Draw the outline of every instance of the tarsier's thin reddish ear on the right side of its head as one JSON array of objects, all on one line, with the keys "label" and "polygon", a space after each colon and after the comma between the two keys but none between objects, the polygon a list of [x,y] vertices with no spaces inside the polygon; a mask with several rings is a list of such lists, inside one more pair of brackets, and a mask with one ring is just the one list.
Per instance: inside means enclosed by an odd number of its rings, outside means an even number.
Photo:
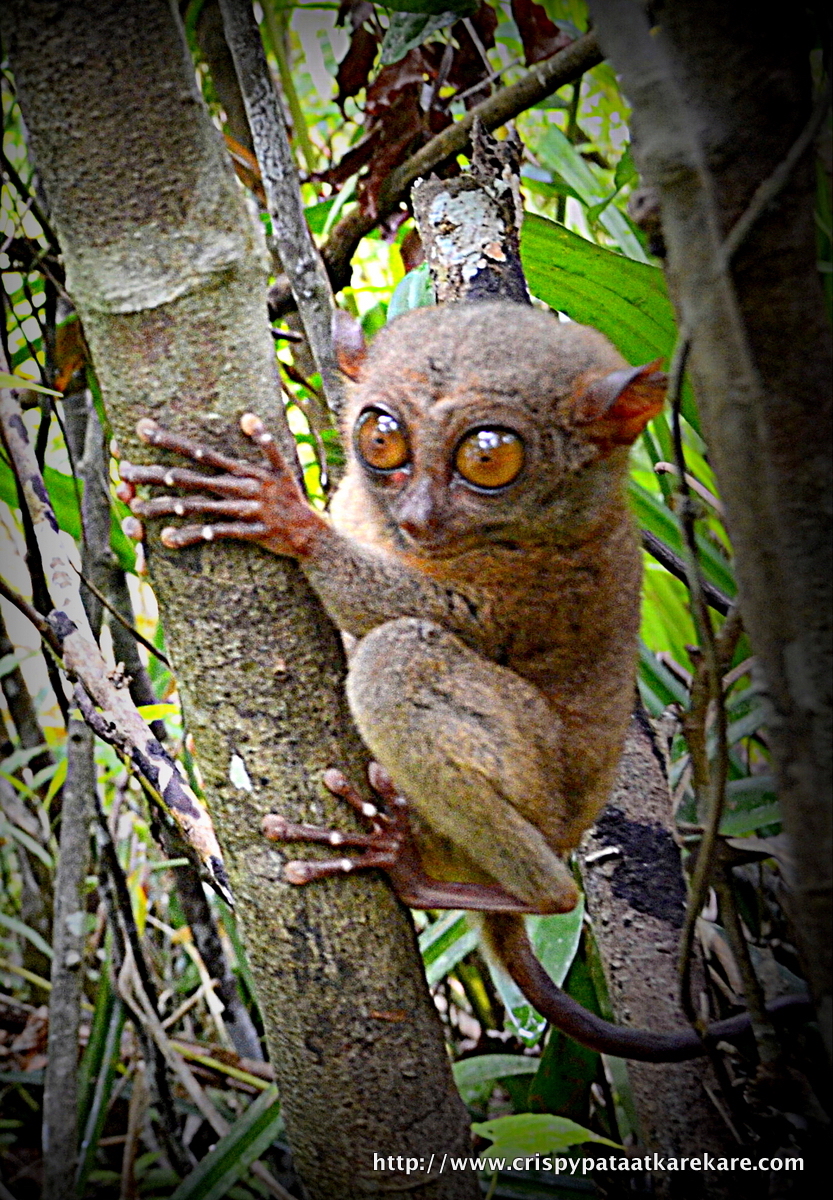
[{"label": "tarsier's thin reddish ear on the right side of its head", "polygon": [[609,446],[631,445],[665,402],[669,378],[658,370],[661,361],[594,379],[573,410],[585,437]]}]

